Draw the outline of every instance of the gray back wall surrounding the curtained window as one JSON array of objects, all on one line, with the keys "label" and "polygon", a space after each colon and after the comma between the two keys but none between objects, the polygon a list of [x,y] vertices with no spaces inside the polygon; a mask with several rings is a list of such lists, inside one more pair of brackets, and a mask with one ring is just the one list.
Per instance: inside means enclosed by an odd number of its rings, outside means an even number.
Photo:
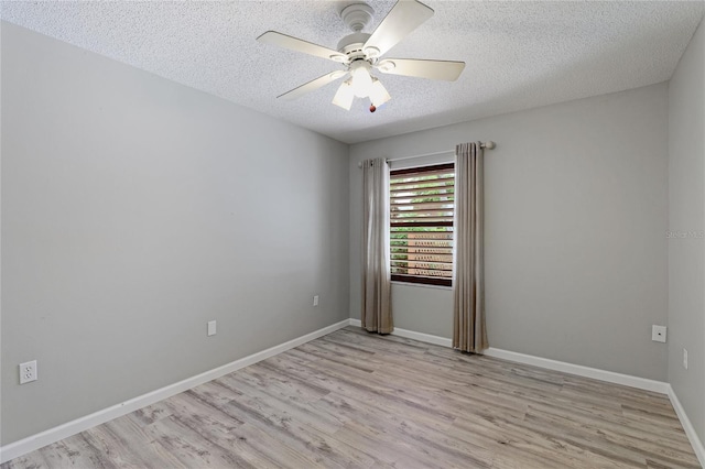
[{"label": "gray back wall surrounding the curtained window", "polygon": [[[664,381],[666,346],[651,325],[665,325],[668,308],[665,84],[352,145],[351,316],[357,163],[476,140],[498,144],[485,166],[491,347]],[[397,327],[451,337],[449,290],[393,285],[392,301]]]}]

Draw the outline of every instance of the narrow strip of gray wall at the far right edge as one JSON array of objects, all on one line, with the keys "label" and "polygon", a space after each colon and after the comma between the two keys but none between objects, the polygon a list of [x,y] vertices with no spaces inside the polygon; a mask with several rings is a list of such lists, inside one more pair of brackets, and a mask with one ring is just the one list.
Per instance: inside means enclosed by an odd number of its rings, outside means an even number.
[{"label": "narrow strip of gray wall at the far right edge", "polygon": [[[669,84],[669,382],[705,444],[705,26]],[[694,234],[694,236],[693,236]],[[684,238],[681,238],[684,236]],[[683,349],[688,369],[683,368]]]}]

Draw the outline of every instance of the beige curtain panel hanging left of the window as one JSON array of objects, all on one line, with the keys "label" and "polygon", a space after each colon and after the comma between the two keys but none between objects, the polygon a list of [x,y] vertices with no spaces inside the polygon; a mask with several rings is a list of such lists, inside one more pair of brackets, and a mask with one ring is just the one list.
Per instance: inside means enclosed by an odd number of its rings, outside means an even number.
[{"label": "beige curtain panel hanging left of the window", "polygon": [[389,165],[384,159],[362,162],[362,327],[394,330],[391,309],[389,247]]}]

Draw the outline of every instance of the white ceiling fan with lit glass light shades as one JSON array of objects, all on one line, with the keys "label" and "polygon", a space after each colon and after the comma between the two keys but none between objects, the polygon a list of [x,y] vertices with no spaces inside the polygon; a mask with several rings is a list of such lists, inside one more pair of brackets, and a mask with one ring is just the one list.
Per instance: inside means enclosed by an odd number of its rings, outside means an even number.
[{"label": "white ceiling fan with lit glass light shades", "polygon": [[372,70],[454,81],[465,68],[464,62],[382,58],[390,48],[433,15],[433,10],[425,4],[416,0],[399,0],[372,34],[364,33],[362,30],[372,19],[372,14],[373,10],[367,3],[352,3],[340,11],[340,19],[352,30],[352,34],[340,40],[337,51],[275,31],[268,31],[259,36],[257,40],[262,43],[327,58],[344,66],[343,69],[311,80],[278,98],[296,99],[336,79],[349,76],[338,88],[333,103],[350,110],[356,97],[369,98],[370,112],[375,112],[377,107],[389,101],[391,96],[381,81],[371,75]]}]

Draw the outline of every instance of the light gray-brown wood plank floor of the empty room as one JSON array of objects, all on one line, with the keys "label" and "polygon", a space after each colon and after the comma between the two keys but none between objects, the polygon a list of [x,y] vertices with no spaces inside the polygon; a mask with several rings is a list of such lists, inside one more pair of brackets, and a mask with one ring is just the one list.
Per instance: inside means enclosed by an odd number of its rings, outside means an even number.
[{"label": "light gray-brown wood plank floor of the empty room", "polygon": [[698,468],[666,396],[329,334],[10,468]]}]

